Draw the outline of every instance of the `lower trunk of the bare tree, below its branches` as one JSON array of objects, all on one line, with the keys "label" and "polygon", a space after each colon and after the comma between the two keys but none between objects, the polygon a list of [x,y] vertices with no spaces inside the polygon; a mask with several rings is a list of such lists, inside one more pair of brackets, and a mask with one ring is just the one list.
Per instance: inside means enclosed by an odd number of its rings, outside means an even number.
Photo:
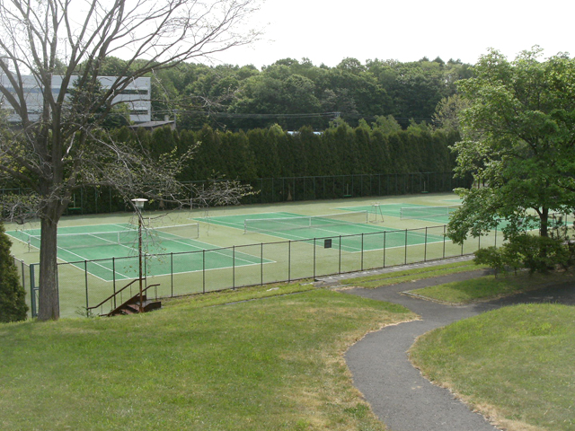
[{"label": "lower trunk of the bare tree, below its branches", "polygon": [[[49,204],[49,206],[51,205]],[[40,227],[40,305],[38,319],[40,321],[56,321],[60,317],[57,292],[57,220],[43,216]]]}]

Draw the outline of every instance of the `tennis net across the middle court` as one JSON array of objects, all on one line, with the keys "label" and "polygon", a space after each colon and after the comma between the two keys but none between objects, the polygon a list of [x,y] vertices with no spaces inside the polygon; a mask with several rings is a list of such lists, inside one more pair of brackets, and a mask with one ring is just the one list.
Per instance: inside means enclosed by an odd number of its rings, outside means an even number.
[{"label": "tennis net across the middle court", "polygon": [[367,223],[367,211],[352,211],[328,216],[248,218],[243,221],[243,233],[283,232],[358,223]]}]

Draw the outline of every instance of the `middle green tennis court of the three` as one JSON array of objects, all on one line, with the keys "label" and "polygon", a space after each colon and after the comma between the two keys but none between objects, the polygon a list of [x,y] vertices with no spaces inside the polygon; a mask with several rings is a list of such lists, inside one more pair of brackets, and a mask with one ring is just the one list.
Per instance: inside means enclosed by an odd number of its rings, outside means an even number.
[{"label": "middle green tennis court of the three", "polygon": [[[399,204],[398,204],[399,205]],[[357,207],[356,207],[357,208]],[[350,208],[346,208],[350,209]],[[376,251],[387,248],[443,242],[443,227],[429,232],[397,230],[367,223],[365,209],[330,216],[302,216],[294,213],[261,213],[240,216],[210,216],[195,220],[242,230],[246,234],[265,233],[278,238],[313,245],[326,244],[341,251]],[[361,214],[363,213],[363,214]],[[354,221],[356,220],[356,221]],[[361,221],[359,221],[361,220]]]}]

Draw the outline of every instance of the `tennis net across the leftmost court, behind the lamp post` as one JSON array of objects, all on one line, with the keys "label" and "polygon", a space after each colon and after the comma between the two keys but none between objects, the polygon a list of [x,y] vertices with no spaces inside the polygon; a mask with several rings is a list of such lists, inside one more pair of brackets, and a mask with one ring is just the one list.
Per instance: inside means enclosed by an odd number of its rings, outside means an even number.
[{"label": "tennis net across the leftmost court, behind the lamp post", "polygon": [[[172,226],[143,228],[142,242],[164,242],[194,239],[199,237],[199,224],[175,224]],[[28,242],[40,247],[40,235],[27,235]],[[101,247],[106,245],[126,245],[137,247],[137,226],[130,226],[121,231],[86,232],[86,233],[60,233],[57,235],[57,246],[61,249],[72,250],[88,247]]]}]

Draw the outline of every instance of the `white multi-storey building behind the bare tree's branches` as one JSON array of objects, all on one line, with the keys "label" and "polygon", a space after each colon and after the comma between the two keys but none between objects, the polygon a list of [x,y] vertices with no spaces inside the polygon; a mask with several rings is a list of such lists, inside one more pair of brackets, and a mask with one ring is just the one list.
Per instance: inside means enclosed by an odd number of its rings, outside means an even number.
[{"label": "white multi-storey building behind the bare tree's branches", "polygon": [[[76,77],[73,77],[72,83],[75,82]],[[109,89],[111,84],[113,84],[117,77],[114,76],[100,76],[98,78],[102,84],[102,89]],[[26,104],[28,106],[28,115],[32,121],[40,119],[40,113],[42,111],[42,95],[40,87],[36,83],[33,76],[27,75],[22,76],[22,82],[26,90]],[[13,92],[12,85],[4,75],[0,75],[0,83],[9,92]],[[60,92],[60,86],[62,84],[62,76],[52,77],[52,92],[55,96]],[[114,96],[114,103],[126,103],[128,109],[130,110],[129,119],[135,123],[143,123],[146,121],[151,121],[152,119],[152,81],[150,78],[136,78],[128,87],[126,87],[122,92]],[[2,101],[2,93],[0,93],[0,101]],[[19,122],[20,117],[15,114],[11,107],[4,101],[0,108],[5,110],[11,110],[8,114],[8,121]]]}]

